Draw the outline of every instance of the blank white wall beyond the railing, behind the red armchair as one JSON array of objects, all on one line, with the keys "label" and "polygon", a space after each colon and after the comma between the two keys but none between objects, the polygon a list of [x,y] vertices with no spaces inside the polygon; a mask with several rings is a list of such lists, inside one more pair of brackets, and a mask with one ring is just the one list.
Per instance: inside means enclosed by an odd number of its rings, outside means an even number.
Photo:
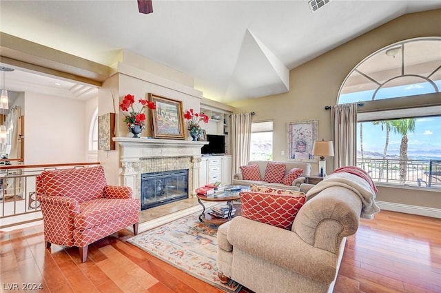
[{"label": "blank white wall beyond the railing, behind the red armchair", "polygon": [[25,92],[25,165],[87,159],[85,102]]}]

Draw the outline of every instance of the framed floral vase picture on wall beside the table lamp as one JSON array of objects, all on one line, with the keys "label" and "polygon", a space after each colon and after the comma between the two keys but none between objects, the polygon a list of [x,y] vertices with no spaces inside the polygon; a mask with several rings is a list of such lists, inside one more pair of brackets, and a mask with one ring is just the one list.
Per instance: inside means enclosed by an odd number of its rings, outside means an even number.
[{"label": "framed floral vase picture on wall beside the table lamp", "polygon": [[287,122],[287,154],[292,161],[316,162],[312,146],[317,140],[317,120]]}]

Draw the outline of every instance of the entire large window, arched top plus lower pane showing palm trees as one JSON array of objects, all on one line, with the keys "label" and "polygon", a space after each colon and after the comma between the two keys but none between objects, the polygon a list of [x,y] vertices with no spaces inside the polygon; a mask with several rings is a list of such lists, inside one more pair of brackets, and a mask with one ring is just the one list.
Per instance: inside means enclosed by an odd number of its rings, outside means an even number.
[{"label": "entire large window, arched top plus lower pane showing palm trees", "polygon": [[441,188],[440,90],[440,37],[393,43],[358,63],[338,94],[339,104],[366,104],[357,165],[378,182]]}]

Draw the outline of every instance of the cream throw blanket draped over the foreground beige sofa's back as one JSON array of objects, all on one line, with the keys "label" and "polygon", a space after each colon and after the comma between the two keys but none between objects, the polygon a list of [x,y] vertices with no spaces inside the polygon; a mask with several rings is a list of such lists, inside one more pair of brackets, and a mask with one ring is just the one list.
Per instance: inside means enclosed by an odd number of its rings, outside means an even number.
[{"label": "cream throw blanket draped over the foreground beige sofa's back", "polygon": [[380,208],[375,203],[375,192],[371,185],[357,175],[349,173],[334,173],[326,176],[322,182],[311,188],[307,194],[307,201],[316,196],[322,190],[333,186],[341,186],[355,192],[362,201],[362,210],[360,216],[363,219],[373,219],[373,214],[380,212]]}]

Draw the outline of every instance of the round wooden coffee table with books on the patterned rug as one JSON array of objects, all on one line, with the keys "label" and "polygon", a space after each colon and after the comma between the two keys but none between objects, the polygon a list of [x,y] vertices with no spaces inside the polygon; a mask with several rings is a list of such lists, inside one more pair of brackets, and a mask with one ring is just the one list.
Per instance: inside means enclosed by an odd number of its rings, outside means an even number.
[{"label": "round wooden coffee table with books on the patterned rug", "polygon": [[[233,201],[237,201],[238,199],[240,199],[239,192],[244,190],[249,190],[249,186],[241,186],[240,191],[238,192],[231,192],[229,191],[229,188],[231,187],[226,187],[224,192],[218,192],[216,194],[211,194],[208,196],[203,194],[196,194],[198,198],[198,203],[201,204],[203,208],[202,213],[199,216],[199,221],[203,223],[220,225],[222,223],[230,221],[231,219],[234,218],[234,216],[240,216],[240,214],[242,214],[240,203],[234,204]],[[229,207],[227,216],[225,218],[221,218],[218,216],[214,216],[213,214],[210,214],[209,210],[207,211],[205,208],[205,205],[203,203],[204,201],[212,201],[212,202],[218,201],[218,202],[227,203]],[[236,212],[234,212],[234,214],[232,214],[233,208],[236,209]]]}]

